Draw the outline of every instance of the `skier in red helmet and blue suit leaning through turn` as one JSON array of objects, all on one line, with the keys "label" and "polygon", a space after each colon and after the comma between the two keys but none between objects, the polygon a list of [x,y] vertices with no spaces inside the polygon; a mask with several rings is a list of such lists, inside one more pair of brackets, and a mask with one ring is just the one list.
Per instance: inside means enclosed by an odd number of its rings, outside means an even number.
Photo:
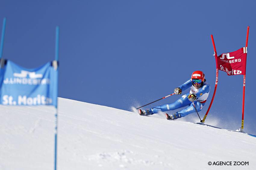
[{"label": "skier in red helmet and blue suit leaning through turn", "polygon": [[[188,106],[187,108],[180,110],[179,112],[173,113],[171,115],[165,114],[166,118],[177,119],[184,117],[190,113],[194,113],[195,108],[198,112],[203,109],[203,106],[207,100],[207,97],[210,92],[210,85],[204,79],[204,73],[202,71],[194,71],[192,73],[191,79],[186,81],[183,85],[180,85],[178,88],[174,89],[175,94],[181,94],[182,91],[190,87],[190,91],[187,94],[184,94],[180,99],[176,100],[171,104],[165,104],[162,106],[156,106],[151,109],[146,109],[142,111],[139,109],[140,115],[152,115],[158,112],[165,112],[168,110],[175,110],[181,107]],[[195,108],[193,106],[195,104]]]}]

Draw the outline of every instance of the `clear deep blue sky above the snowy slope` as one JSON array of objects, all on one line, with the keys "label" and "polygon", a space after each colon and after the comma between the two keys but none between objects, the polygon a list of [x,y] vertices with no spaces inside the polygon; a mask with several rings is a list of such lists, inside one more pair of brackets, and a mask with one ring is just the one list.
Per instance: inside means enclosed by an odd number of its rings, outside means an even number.
[{"label": "clear deep blue sky above the snowy slope", "polygon": [[[130,110],[173,93],[194,70],[205,73],[211,99],[215,60],[210,35],[218,54],[232,52],[245,46],[250,25],[245,131],[255,134],[255,6],[255,1],[2,0],[1,27],[7,17],[3,57],[28,68],[53,60],[59,25],[59,97]],[[241,126],[242,80],[220,71],[205,123],[218,118],[222,127]]]}]

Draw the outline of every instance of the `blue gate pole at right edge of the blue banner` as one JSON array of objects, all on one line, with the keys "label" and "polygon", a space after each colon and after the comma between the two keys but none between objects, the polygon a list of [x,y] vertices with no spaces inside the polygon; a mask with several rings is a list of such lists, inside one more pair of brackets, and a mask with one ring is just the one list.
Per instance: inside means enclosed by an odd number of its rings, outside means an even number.
[{"label": "blue gate pole at right edge of the blue banner", "polygon": [[[59,27],[56,27],[56,37],[55,37],[55,60],[59,60]],[[56,70],[57,71],[57,70]],[[57,103],[56,103],[56,113],[55,113],[55,156],[54,156],[54,169],[57,170],[57,135],[58,135],[58,75],[57,75]]]}]

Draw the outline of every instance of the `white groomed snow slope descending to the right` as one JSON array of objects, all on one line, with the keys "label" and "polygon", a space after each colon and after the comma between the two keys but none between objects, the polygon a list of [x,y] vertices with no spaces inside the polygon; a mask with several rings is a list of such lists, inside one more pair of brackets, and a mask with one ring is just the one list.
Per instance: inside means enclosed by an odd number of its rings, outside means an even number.
[{"label": "white groomed snow slope descending to the right", "polygon": [[[55,109],[0,106],[0,169],[53,169]],[[256,138],[59,98],[58,169],[255,169]],[[246,166],[208,165],[246,161]],[[234,164],[234,163],[233,163]]]}]

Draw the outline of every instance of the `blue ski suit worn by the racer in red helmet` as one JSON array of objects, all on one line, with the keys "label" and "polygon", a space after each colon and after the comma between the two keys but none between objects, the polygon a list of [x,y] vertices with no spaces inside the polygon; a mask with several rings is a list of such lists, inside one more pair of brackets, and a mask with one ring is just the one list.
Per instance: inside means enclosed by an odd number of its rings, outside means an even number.
[{"label": "blue ski suit worn by the racer in red helmet", "polygon": [[[155,114],[158,112],[165,112],[168,110],[175,110],[179,109],[181,107],[186,107],[183,110],[180,110],[179,112],[176,112],[177,114],[180,114],[181,117],[184,117],[190,113],[194,113],[195,108],[197,109],[198,112],[200,112],[203,109],[203,106],[207,100],[207,97],[210,92],[210,85],[207,82],[203,82],[203,85],[199,89],[196,89],[194,85],[192,84],[192,80],[189,79],[186,81],[183,85],[180,85],[179,88],[184,91],[190,87],[190,91],[187,94],[184,94],[180,99],[176,100],[173,103],[170,104],[165,104],[162,106],[156,106],[150,109],[151,114]],[[195,103],[195,108],[193,106],[193,103],[189,101],[188,95],[189,94],[195,94],[196,95],[196,100],[194,101]]]}]

